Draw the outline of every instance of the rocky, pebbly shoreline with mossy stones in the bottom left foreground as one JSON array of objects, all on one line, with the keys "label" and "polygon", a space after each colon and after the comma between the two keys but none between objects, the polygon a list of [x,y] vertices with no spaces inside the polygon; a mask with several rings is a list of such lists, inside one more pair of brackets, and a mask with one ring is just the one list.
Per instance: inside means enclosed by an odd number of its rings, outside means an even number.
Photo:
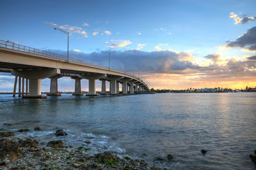
[{"label": "rocky, pebbly shoreline with mossy stones in the bottom left foreground", "polygon": [[[56,136],[67,135],[56,131]],[[66,146],[61,140],[40,142],[32,138],[15,138],[14,132],[0,132],[0,169],[160,169],[145,160],[118,157],[116,153],[95,155],[90,148]]]}]

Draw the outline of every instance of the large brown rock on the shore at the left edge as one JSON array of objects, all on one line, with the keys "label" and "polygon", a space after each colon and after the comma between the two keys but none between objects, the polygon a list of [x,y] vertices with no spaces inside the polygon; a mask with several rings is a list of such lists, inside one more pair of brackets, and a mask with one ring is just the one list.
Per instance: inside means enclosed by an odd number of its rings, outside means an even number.
[{"label": "large brown rock on the shore at the left edge", "polygon": [[0,162],[13,162],[20,155],[19,143],[8,138],[0,139]]}]

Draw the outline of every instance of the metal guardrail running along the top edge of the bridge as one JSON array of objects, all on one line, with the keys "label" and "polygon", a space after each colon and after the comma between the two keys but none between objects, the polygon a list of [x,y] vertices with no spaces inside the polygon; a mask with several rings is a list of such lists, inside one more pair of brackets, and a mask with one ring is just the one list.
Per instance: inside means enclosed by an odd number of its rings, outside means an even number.
[{"label": "metal guardrail running along the top edge of the bridge", "polygon": [[[51,57],[52,59],[67,61],[67,57],[64,56],[64,55],[60,55],[60,54],[52,53],[52,52],[47,52],[47,51],[44,51],[44,50],[39,50],[39,49],[32,48],[32,47],[29,47],[29,46],[19,45],[17,43],[13,43],[12,41],[4,41],[4,40],[0,39],[0,46],[3,47],[3,48],[17,50],[17,51],[20,51],[20,52],[33,53],[33,54],[41,55],[41,56],[44,56],[44,57]],[[73,58],[73,57],[69,57],[68,62],[74,62],[74,63],[81,64],[81,65],[84,65],[84,66],[91,66],[91,67],[97,67],[97,68],[109,70],[108,67],[99,66],[97,64],[94,64],[93,62],[79,60],[79,59],[76,59],[76,58]],[[136,77],[132,74],[124,73],[124,72],[116,70],[116,69],[110,69],[110,71],[116,71],[118,73],[127,74],[129,76],[137,78],[138,80],[140,80],[141,82],[143,82],[147,86],[147,84],[143,80],[141,80],[140,77]]]}]

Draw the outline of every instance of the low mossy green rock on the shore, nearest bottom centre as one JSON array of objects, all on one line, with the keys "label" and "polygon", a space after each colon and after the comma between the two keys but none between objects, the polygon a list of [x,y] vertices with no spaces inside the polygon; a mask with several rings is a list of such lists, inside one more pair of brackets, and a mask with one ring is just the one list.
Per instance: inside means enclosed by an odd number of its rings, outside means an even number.
[{"label": "low mossy green rock on the shore, nearest bottom centre", "polygon": [[106,164],[108,166],[116,164],[119,161],[118,157],[109,151],[96,154],[93,160],[97,162],[97,164]]}]

